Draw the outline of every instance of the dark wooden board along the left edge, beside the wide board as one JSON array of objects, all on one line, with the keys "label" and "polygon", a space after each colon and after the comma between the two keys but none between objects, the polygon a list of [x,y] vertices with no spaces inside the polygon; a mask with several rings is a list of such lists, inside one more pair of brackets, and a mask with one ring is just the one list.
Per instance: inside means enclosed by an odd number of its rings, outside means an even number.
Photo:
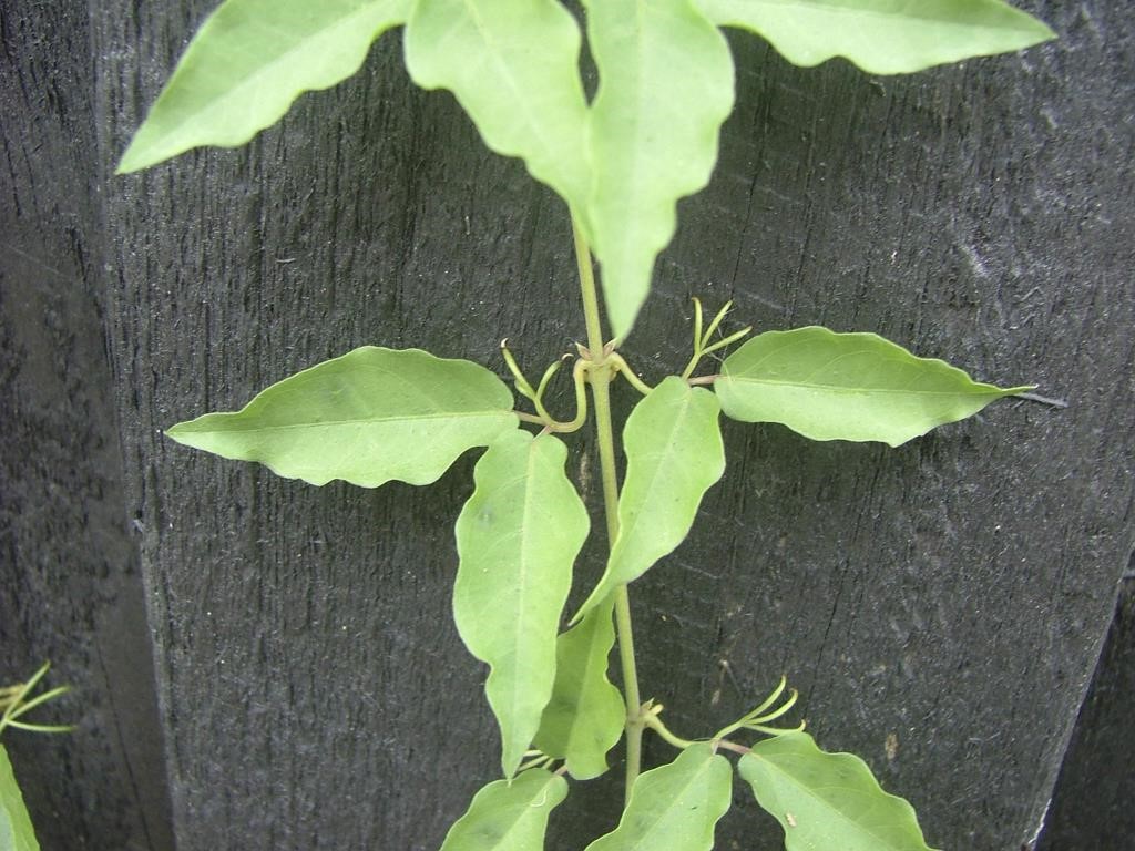
[{"label": "dark wooden board along the left edge, beside the wide board", "polygon": [[0,8],[0,682],[74,692],[6,731],[44,849],[173,849],[103,338],[85,3]]}]

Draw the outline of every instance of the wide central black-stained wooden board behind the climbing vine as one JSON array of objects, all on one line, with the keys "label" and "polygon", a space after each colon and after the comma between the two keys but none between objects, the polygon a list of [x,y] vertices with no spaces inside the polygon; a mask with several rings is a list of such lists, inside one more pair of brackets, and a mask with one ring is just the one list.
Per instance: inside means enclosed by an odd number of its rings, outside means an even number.
[{"label": "wide central black-stained wooden board behind the climbing vine", "polygon": [[[110,162],[211,3],[104,6]],[[731,39],[717,175],[681,205],[625,348],[661,379],[684,362],[689,296],[732,297],[739,322],[877,331],[1068,399],[898,450],[729,424],[700,525],[634,589],[645,694],[678,732],[732,721],[787,672],[818,740],[861,753],[938,846],[1035,834],[1132,547],[1132,23],[1119,0],[1022,6],[1062,40],[911,78]],[[495,776],[485,672],[448,601],[471,458],[428,490],[316,489],[160,433],[364,343],[499,368],[508,336],[538,371],[582,336],[563,209],[398,53],[384,36],[246,150],[101,185],[185,850],[434,849]],[[571,469],[594,499],[590,443]],[[669,755],[650,740],[648,757]],[[574,784],[549,848],[613,824],[615,783]],[[755,809],[721,848],[777,846]]]}]

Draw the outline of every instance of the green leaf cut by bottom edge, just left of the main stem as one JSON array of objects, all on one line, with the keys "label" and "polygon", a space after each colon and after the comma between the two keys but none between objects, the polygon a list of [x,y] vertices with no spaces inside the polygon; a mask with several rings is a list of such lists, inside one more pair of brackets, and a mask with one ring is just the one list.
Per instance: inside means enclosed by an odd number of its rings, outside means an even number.
[{"label": "green leaf cut by bottom edge, just left of the main stem", "polygon": [[568,781],[543,768],[489,783],[449,828],[442,851],[539,851],[548,815],[566,797]]}]

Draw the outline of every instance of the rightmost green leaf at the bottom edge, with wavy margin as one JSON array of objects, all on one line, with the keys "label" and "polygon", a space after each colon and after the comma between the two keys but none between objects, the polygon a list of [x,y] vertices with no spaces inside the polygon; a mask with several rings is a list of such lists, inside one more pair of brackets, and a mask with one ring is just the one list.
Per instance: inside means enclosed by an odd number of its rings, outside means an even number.
[{"label": "rightmost green leaf at the bottom edge, with wavy margin", "polygon": [[738,770],[781,823],[787,851],[931,851],[914,807],[884,792],[859,757],[826,753],[807,733],[758,742]]}]

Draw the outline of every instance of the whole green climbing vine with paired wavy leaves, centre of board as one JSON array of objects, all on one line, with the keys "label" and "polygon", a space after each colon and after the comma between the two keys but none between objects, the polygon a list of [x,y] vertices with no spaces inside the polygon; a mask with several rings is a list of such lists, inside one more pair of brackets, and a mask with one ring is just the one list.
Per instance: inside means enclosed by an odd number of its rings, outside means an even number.
[{"label": "whole green climbing vine with paired wavy leaves, centre of board", "polygon": [[[489,666],[503,778],[477,793],[444,851],[541,848],[569,777],[605,774],[620,740],[625,811],[589,851],[711,849],[732,801],[729,756],[790,850],[927,849],[914,809],[885,793],[863,760],[826,753],[802,724],[784,722],[797,694],[783,681],[723,730],[693,739],[671,731],[663,708],[641,698],[628,587],[682,542],[721,478],[722,414],[815,440],[898,446],[1029,388],[976,382],[874,334],[725,334],[728,304],[707,318],[695,302],[690,359],[654,386],[619,349],[673,237],[678,200],[703,188],[716,162],[734,77],[721,27],[759,35],[797,65],[844,57],[872,74],[1019,50],[1051,31],[1000,0],[585,0],[580,15],[555,0],[228,0],[188,45],[119,171],[247,142],[301,92],[356,71],[371,43],[400,26],[414,82],[453,92],[485,143],[521,158],[570,211],[564,236],[575,248],[586,329],[570,353],[574,415],[557,420],[544,401],[565,360],[531,381],[502,345],[527,403],[518,408],[482,365],[365,346],[285,378],[241,411],[167,435],[312,485],[367,488],[428,485],[461,454],[485,448],[456,521],[453,608],[470,652]],[[579,70],[583,32],[599,81],[590,100]],[[706,371],[707,356],[730,347]],[[616,384],[642,397],[621,429],[609,402]],[[585,603],[565,612],[591,532],[565,473],[565,439],[589,421],[609,554]],[[608,677],[616,646],[621,689]],[[676,756],[642,772],[647,730]]]}]

